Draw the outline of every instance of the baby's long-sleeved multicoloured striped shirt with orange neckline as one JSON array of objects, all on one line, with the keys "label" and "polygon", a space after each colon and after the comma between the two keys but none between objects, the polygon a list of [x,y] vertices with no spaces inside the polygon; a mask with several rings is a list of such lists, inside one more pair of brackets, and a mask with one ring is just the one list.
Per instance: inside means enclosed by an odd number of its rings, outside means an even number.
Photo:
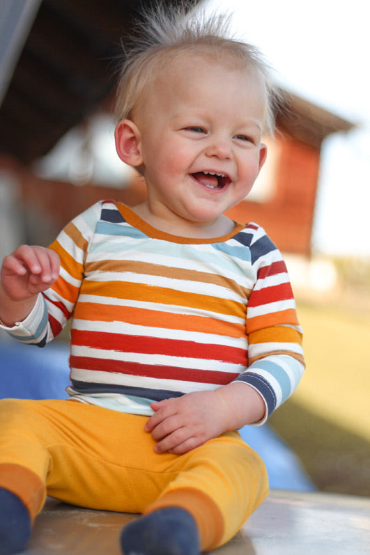
[{"label": "baby's long-sleeved multicoloured striped shirt with orange neckline", "polygon": [[302,333],[281,253],[256,224],[190,239],[102,201],[51,245],[54,286],[10,333],[43,346],[72,318],[71,394],[162,400],[245,382],[266,417],[303,370]]}]

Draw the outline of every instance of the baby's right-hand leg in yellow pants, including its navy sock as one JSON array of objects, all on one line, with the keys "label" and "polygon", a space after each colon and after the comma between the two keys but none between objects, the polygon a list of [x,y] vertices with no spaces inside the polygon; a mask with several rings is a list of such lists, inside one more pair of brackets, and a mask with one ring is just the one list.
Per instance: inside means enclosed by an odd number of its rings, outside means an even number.
[{"label": "baby's right-hand leg in yellow pants, including its navy sock", "polygon": [[215,549],[235,535],[268,494],[261,458],[236,432],[179,456],[171,469],[176,469],[176,478],[144,510],[144,517],[123,529],[125,555],[198,555]]}]

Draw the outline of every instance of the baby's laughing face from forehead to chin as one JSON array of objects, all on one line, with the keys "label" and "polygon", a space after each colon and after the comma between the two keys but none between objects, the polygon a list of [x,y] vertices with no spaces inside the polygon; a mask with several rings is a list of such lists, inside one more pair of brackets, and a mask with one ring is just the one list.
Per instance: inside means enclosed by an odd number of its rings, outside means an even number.
[{"label": "baby's laughing face from forehead to chin", "polygon": [[252,188],[265,160],[264,118],[253,72],[209,56],[171,60],[132,118],[152,205],[174,225],[214,223]]}]

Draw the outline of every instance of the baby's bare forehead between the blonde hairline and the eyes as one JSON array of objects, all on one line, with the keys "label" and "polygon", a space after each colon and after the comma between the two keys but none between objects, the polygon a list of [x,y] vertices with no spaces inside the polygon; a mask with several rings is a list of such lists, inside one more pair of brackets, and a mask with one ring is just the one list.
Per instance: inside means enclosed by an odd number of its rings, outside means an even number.
[{"label": "baby's bare forehead between the blonde hairline and the eyes", "polygon": [[[234,110],[228,111],[226,105]],[[217,114],[233,123],[257,118],[261,127],[265,107],[263,87],[251,68],[188,52],[163,61],[153,72],[133,116],[136,123],[143,123],[143,118],[148,123],[160,117],[178,122],[190,116],[209,119]]]}]

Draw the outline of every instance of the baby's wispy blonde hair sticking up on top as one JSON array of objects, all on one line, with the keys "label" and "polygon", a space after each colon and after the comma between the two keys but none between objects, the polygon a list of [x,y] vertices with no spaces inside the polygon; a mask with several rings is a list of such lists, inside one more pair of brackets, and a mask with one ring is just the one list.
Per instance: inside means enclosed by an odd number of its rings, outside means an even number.
[{"label": "baby's wispy blonde hair sticking up on top", "polygon": [[[271,70],[258,48],[229,36],[230,17],[189,10],[185,2],[164,8],[157,4],[145,13],[124,47],[125,61],[117,87],[117,120],[130,119],[147,87],[169,61],[179,54],[211,56],[213,60],[255,72],[265,95],[263,131],[273,134],[279,92]],[[222,87],[222,80],[220,81]]]}]

